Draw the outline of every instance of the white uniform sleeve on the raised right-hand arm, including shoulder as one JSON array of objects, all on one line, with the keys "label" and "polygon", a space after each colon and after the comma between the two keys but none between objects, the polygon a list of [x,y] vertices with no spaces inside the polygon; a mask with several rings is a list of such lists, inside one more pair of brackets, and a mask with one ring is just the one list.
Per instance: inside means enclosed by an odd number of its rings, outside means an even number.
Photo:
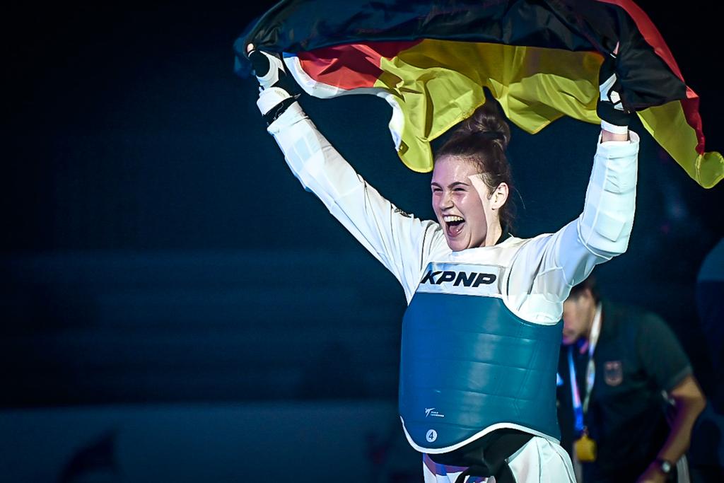
[{"label": "white uniform sleeve on the raised right-hand arm, including shoulder", "polygon": [[508,305],[523,319],[555,323],[571,287],[626,251],[636,206],[639,136],[598,143],[581,215],[521,247],[510,267]]}]

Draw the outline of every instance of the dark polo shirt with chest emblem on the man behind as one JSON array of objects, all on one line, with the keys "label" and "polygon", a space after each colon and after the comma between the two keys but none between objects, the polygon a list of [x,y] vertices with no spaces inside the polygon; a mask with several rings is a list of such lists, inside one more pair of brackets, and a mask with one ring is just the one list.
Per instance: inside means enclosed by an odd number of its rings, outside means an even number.
[{"label": "dark polo shirt with chest emblem on the man behind", "polygon": [[[588,352],[573,347],[578,388],[586,387]],[[670,391],[691,374],[689,358],[660,317],[631,306],[603,303],[601,335],[594,352],[596,379],[584,424],[597,442],[595,463],[584,463],[584,479],[634,482],[654,461],[668,436],[666,403]],[[571,453],[573,403],[568,347],[560,351],[558,420],[561,444]],[[581,394],[581,400],[584,395]]]}]

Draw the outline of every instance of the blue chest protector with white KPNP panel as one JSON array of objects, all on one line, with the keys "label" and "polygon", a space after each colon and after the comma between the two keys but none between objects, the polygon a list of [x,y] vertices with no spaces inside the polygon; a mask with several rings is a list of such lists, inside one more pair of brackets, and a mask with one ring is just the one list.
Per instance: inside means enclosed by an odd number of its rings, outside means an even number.
[{"label": "blue chest protector with white KPNP panel", "polygon": [[417,450],[445,453],[499,427],[560,440],[555,374],[563,322],[515,316],[491,296],[500,292],[500,272],[431,264],[405,312],[400,416]]}]

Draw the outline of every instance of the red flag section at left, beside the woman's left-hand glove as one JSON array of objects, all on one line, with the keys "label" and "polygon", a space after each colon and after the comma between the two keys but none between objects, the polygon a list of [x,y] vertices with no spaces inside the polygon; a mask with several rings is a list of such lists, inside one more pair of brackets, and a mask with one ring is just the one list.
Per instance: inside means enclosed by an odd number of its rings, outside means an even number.
[{"label": "red flag section at left, beside the woman's left-hand glove", "polygon": [[346,43],[297,56],[304,72],[319,83],[346,90],[371,88],[382,75],[382,57],[391,59],[420,42]]}]

